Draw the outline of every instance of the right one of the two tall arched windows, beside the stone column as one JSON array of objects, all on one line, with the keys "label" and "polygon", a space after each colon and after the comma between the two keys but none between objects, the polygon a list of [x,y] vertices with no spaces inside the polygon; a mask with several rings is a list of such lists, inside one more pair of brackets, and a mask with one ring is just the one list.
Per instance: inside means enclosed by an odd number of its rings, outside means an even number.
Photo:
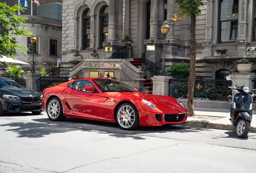
[{"label": "right one of the two tall arched windows, beside the stone column", "polygon": [[100,11],[99,17],[100,17],[100,48],[103,48],[102,44],[103,42],[106,42],[108,40],[108,6],[103,6],[103,8]]}]

